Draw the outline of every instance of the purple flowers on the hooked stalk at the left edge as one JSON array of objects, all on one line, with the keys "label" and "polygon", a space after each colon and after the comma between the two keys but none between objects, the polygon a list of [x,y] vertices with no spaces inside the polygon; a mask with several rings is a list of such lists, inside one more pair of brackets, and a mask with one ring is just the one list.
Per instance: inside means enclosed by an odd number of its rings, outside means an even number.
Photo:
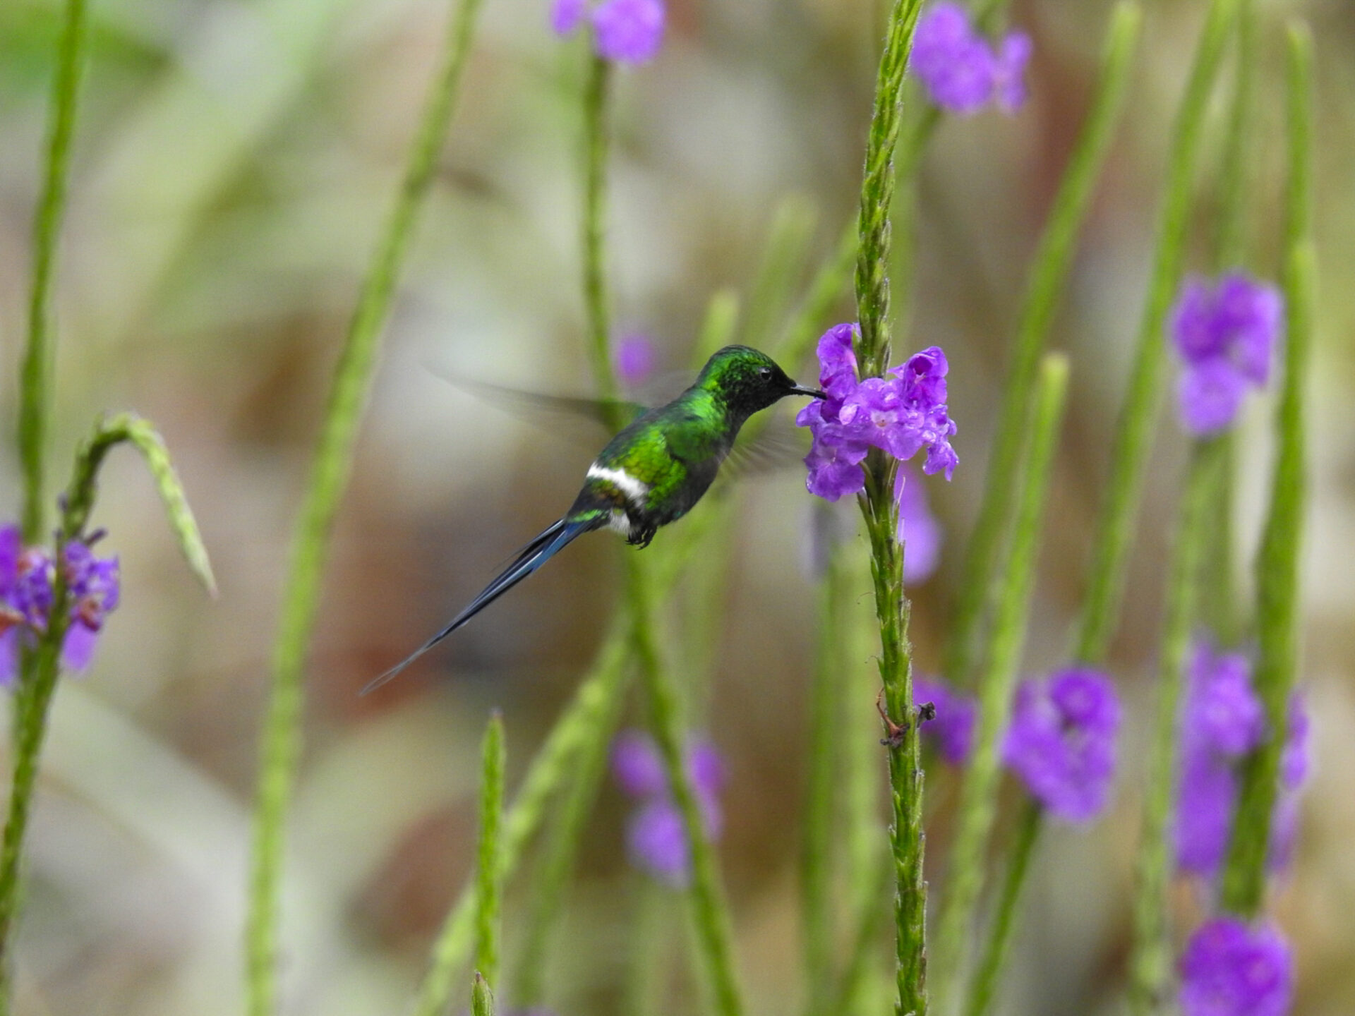
[{"label": "purple flowers on the hooked stalk at the left edge", "polygon": [[[64,554],[70,627],[61,662],[72,671],[89,665],[104,618],[118,606],[118,558],[95,557],[89,543],[70,542]],[[0,527],[0,685],[18,676],[20,639],[47,630],[56,578],[50,551],[24,547],[18,526]]]}]

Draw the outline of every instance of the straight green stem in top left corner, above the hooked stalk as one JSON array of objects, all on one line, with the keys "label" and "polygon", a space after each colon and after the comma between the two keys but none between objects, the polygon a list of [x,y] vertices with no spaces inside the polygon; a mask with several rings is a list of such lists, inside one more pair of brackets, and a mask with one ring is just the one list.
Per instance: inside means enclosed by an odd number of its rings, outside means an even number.
[{"label": "straight green stem in top left corner, above the hooked stalk", "polygon": [[19,382],[19,462],[23,467],[23,539],[38,543],[46,536],[47,499],[43,493],[43,450],[51,416],[51,363],[56,340],[51,335],[51,279],[56,274],[57,241],[66,207],[66,176],[70,167],[70,137],[76,126],[76,98],[88,31],[85,0],[66,0],[66,12],[57,47],[57,75],[49,100],[47,153],[42,196],[33,224],[33,284],[28,290],[28,344],[23,354]]}]

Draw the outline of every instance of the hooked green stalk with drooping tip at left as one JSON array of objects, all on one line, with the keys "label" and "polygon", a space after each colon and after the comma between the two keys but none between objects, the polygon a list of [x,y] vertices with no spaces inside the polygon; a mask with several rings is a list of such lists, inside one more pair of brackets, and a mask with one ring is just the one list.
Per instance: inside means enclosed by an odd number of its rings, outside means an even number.
[{"label": "hooked green stalk with drooping tip at left", "polygon": [[[68,543],[84,539],[89,515],[93,512],[99,470],[104,458],[118,444],[131,444],[141,452],[165,507],[179,549],[192,573],[210,593],[214,593],[215,583],[207,551],[202,545],[183,486],[169,462],[169,452],[149,421],[127,413],[100,420],[95,424],[93,433],[76,451],[70,485],[62,499],[56,559],[60,562],[65,558]],[[14,779],[9,787],[4,840],[0,845],[0,1013],[8,1013],[11,1005],[11,943],[19,912],[23,844],[38,778],[38,759],[47,732],[47,711],[61,672],[61,646],[70,626],[69,612],[65,569],[58,566],[47,627],[38,637],[37,646],[30,654],[34,668],[31,684],[28,694],[19,703],[22,711],[15,722]]]}]

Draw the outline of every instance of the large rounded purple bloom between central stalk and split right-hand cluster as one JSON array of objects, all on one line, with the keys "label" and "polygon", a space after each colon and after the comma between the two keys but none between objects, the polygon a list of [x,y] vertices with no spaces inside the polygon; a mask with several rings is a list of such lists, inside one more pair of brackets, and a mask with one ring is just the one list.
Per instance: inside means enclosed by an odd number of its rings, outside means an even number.
[{"label": "large rounded purple bloom between central stalk and split right-hand cluster", "polygon": [[1072,822],[1106,806],[1121,708],[1100,671],[1069,668],[1016,688],[1003,760],[1049,811]]}]

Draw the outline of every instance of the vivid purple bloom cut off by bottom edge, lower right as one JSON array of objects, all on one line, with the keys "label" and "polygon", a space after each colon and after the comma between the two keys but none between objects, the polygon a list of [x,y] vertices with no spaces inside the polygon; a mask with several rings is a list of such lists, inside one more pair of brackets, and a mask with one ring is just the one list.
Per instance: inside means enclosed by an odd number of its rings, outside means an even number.
[{"label": "vivid purple bloom cut off by bottom edge, lower right", "polygon": [[1294,960],[1279,932],[1215,917],[1191,936],[1180,959],[1184,1016],[1285,1016]]}]

